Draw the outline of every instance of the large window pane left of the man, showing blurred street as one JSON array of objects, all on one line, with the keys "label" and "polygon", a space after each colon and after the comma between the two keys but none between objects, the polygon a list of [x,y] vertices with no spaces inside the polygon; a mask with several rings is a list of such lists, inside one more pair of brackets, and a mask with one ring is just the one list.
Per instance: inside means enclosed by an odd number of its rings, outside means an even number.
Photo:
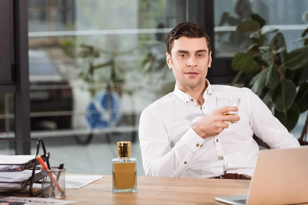
[{"label": "large window pane left of the man, showing blurred street", "polygon": [[[186,0],[29,0],[31,136],[51,145],[54,163],[69,161],[70,173],[111,174],[106,165],[117,157],[117,140],[131,140],[137,141],[132,156],[138,158],[138,174],[144,174],[139,117],[174,90],[165,39],[186,21],[185,5]],[[89,147],[79,146],[87,139]],[[90,161],[74,167],[89,156],[105,157],[100,167]]]}]

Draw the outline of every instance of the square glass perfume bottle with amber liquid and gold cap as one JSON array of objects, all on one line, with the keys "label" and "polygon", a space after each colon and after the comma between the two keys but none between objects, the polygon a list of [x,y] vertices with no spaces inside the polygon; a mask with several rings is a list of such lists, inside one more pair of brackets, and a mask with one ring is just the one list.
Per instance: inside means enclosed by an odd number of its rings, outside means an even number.
[{"label": "square glass perfume bottle with amber liquid and gold cap", "polygon": [[137,192],[137,159],[130,158],[130,141],[118,142],[118,158],[112,159],[112,192]]}]

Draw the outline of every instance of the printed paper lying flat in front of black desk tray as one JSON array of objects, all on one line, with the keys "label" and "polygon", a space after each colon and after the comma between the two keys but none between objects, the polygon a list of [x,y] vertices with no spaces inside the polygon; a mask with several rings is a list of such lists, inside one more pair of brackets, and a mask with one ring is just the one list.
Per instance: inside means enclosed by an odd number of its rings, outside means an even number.
[{"label": "printed paper lying flat in front of black desk tray", "polygon": [[35,204],[65,205],[65,204],[73,204],[76,202],[76,201],[65,201],[65,200],[49,199],[49,198],[0,196],[0,204],[2,203],[5,204],[13,201],[18,202],[18,205],[35,205]]}]

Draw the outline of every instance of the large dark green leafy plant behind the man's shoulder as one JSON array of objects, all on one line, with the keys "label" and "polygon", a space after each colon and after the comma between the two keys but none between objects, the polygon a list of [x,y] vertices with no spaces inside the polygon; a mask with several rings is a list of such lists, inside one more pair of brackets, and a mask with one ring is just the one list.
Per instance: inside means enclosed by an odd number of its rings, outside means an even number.
[{"label": "large dark green leafy plant behind the man's shoulder", "polygon": [[[238,71],[232,81],[245,74],[245,86],[251,88],[272,110],[275,117],[291,131],[300,113],[308,109],[308,28],[295,42],[304,46],[287,52],[284,35],[277,28],[264,29],[265,20],[256,13],[237,26],[238,32],[251,32],[252,44],[246,53],[236,53],[232,68]],[[273,37],[266,45],[266,38]],[[307,116],[308,120],[308,116]],[[307,135],[307,120],[300,138]]]}]

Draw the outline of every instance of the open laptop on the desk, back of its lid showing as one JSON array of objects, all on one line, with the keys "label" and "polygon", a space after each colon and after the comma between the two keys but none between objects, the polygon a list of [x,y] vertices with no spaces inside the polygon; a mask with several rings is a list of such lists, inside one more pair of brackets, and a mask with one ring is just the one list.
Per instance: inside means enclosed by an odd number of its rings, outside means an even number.
[{"label": "open laptop on the desk, back of its lid showing", "polygon": [[307,192],[308,146],[302,146],[260,150],[248,194],[215,199],[234,205],[294,204],[308,202]]}]

